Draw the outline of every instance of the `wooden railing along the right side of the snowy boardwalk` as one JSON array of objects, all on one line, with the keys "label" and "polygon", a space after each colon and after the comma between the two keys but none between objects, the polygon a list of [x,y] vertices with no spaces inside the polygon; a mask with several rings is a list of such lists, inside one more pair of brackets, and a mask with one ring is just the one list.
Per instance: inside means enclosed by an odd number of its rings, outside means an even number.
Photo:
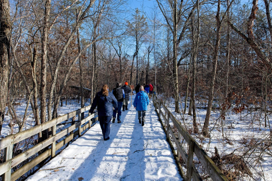
[{"label": "wooden railing along the right side of the snowy boardwalk", "polygon": [[[198,158],[199,162],[202,164],[205,171],[208,173],[210,178],[214,181],[227,181],[228,179],[223,175],[223,173],[219,170],[216,164],[212,161],[212,159],[205,153],[205,151],[201,148],[201,146],[192,138],[192,136],[188,133],[187,130],[177,121],[177,119],[172,115],[172,113],[165,107],[161,101],[157,98],[156,95],[153,96],[153,104],[155,106],[155,110],[159,116],[159,120],[164,126],[164,130],[166,131],[166,138],[169,141],[171,147],[173,148],[173,144],[169,139],[169,133],[171,134],[174,143],[177,146],[177,155],[175,155],[175,159],[177,160],[177,164],[179,165],[179,170],[181,172],[181,176],[184,180],[191,181],[193,178],[194,181],[202,180],[200,174],[198,173],[195,165],[193,164],[194,154]],[[164,122],[161,120],[164,120]],[[174,126],[177,128],[177,136],[174,134],[173,129],[170,127],[170,119]],[[181,136],[188,144],[188,151],[186,152],[183,148],[180,140]],[[174,154],[175,150],[173,150]],[[187,172],[186,177],[185,173],[182,170],[179,164],[180,155],[184,160]]]}]

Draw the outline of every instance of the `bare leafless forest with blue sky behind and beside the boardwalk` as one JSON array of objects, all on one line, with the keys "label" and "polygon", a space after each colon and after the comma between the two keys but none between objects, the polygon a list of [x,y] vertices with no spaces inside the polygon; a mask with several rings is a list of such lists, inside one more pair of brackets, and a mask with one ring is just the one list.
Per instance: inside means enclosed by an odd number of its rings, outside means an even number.
[{"label": "bare leafless forest with blue sky behind and beside the boardwalk", "polygon": [[[130,3],[0,1],[0,134],[6,115],[11,128],[23,130],[29,113],[17,115],[21,100],[38,125],[56,118],[64,100],[84,107],[101,85],[128,81],[154,84],[164,101],[173,97],[175,112],[192,115],[192,133],[206,138],[213,108],[222,123],[229,109],[261,111],[271,145],[271,1],[154,0],[145,9]],[[207,109],[203,125],[199,102]]]}]

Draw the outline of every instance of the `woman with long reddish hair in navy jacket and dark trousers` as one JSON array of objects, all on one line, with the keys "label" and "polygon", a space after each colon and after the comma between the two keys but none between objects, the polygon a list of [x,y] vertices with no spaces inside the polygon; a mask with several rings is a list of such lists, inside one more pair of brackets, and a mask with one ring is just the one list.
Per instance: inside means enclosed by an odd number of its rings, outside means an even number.
[{"label": "woman with long reddish hair in navy jacket and dark trousers", "polygon": [[117,107],[117,100],[114,95],[109,92],[109,87],[107,84],[103,85],[101,91],[95,95],[89,113],[92,114],[96,106],[103,138],[104,140],[108,140],[110,139],[109,135],[111,130],[111,116],[113,113],[113,107]]}]

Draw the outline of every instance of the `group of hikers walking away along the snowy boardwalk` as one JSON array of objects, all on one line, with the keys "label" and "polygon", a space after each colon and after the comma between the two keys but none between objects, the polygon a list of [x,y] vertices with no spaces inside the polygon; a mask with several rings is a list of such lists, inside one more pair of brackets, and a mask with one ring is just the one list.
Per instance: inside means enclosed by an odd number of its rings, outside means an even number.
[{"label": "group of hikers walking away along the snowy boardwalk", "polygon": [[[122,111],[128,110],[130,92],[132,90],[128,86],[128,82],[125,82],[125,85],[122,87],[121,83],[117,82],[112,92],[109,91],[108,85],[105,84],[101,91],[95,95],[89,113],[92,114],[97,106],[97,115],[104,140],[110,139],[111,118],[112,123],[115,123],[117,115],[117,123],[121,123]],[[136,96],[133,106],[138,111],[139,123],[142,123],[142,126],[144,126],[149,97],[152,96],[153,86],[151,84],[144,84],[144,86],[138,84],[135,87],[135,92]]]}]

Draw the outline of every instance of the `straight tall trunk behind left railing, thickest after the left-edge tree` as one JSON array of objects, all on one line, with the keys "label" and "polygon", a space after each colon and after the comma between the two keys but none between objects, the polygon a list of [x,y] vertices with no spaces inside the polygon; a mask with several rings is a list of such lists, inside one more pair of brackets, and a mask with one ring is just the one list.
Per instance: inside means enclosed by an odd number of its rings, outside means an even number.
[{"label": "straight tall trunk behind left railing, thickest after the left-edge tree", "polygon": [[[46,122],[46,68],[47,68],[47,40],[49,33],[49,13],[50,13],[51,0],[45,0],[45,15],[44,15],[44,24],[41,37],[41,89],[40,89],[40,101],[41,101],[41,123]],[[42,131],[43,141],[49,137],[48,131]]]}]

